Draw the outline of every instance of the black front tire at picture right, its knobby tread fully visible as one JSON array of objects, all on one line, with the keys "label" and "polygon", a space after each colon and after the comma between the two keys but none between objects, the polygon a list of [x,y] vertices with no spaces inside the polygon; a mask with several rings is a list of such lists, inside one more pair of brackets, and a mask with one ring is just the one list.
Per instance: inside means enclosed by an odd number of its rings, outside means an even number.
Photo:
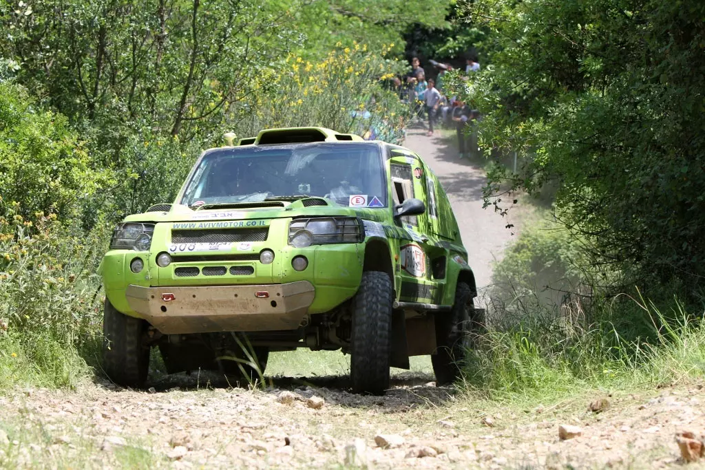
[{"label": "black front tire at picture right, its knobby tread fully visible", "polygon": [[353,298],[350,382],[354,393],[383,395],[389,388],[392,302],[394,290],[386,273],[367,271]]}]

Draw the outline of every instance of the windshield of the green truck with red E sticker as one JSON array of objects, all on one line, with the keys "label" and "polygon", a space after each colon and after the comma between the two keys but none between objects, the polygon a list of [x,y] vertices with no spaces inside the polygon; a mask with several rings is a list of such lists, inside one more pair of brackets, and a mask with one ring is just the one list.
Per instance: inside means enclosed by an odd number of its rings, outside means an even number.
[{"label": "windshield of the green truck with red E sticker", "polygon": [[343,206],[384,207],[383,165],[372,143],[217,149],[200,160],[180,202],[199,206],[320,196]]}]

